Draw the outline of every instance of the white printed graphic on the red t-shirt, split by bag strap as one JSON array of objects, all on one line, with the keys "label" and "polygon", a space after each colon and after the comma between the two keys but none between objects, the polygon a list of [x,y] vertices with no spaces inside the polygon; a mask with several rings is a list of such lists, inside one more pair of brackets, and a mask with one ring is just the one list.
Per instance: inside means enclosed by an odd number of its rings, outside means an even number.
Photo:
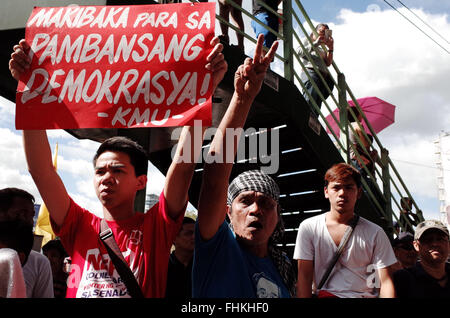
[{"label": "white printed graphic on the red t-shirt, split by bag strap", "polygon": [[[130,264],[135,277],[139,277],[137,251],[142,243],[142,232],[132,231],[127,240],[127,250],[123,257]],[[84,268],[77,290],[77,298],[130,298],[125,283],[109,258],[108,253],[100,254],[98,248],[86,251]]]}]

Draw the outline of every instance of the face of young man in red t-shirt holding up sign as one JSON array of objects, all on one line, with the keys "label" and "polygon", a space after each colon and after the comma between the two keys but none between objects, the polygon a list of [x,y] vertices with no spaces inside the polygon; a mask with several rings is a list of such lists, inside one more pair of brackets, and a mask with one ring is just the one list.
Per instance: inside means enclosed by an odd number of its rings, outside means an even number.
[{"label": "face of young man in red t-shirt holding up sign", "polygon": [[95,163],[94,187],[105,208],[134,202],[136,191],[143,189],[147,176],[136,177],[130,157],[123,152],[106,151]]}]

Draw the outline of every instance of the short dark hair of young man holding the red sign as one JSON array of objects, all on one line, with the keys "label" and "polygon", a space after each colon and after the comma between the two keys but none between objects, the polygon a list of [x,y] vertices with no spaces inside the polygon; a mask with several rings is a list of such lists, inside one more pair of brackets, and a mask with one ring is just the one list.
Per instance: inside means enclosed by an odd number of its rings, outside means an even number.
[{"label": "short dark hair of young man holding the red sign", "polygon": [[123,152],[127,154],[128,157],[130,157],[130,162],[134,167],[136,176],[147,174],[147,153],[137,142],[121,136],[106,139],[97,149],[93,159],[94,167],[98,157],[106,151]]}]

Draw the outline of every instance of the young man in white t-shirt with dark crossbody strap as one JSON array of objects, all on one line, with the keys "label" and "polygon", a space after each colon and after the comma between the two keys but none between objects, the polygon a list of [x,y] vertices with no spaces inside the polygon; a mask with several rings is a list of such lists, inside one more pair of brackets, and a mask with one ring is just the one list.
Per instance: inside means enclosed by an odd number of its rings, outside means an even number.
[{"label": "young man in white t-shirt with dark crossbody strap", "polygon": [[[355,220],[361,197],[361,175],[353,166],[338,163],[324,177],[330,211],[300,223],[294,250],[298,260],[297,297],[312,297],[348,227]],[[397,259],[383,229],[359,217],[340,258],[320,290],[319,298],[392,298],[391,265]],[[373,271],[375,271],[373,273]],[[368,284],[375,279],[373,286]],[[379,291],[378,291],[379,289]]]}]

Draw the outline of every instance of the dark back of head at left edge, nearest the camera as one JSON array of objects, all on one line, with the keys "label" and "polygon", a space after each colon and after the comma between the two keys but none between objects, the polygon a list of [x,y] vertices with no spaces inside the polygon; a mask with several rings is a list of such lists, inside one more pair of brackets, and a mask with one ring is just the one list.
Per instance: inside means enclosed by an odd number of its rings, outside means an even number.
[{"label": "dark back of head at left edge, nearest the camera", "polygon": [[22,266],[28,260],[33,248],[32,225],[20,219],[0,222],[0,248],[10,248],[17,252]]}]

